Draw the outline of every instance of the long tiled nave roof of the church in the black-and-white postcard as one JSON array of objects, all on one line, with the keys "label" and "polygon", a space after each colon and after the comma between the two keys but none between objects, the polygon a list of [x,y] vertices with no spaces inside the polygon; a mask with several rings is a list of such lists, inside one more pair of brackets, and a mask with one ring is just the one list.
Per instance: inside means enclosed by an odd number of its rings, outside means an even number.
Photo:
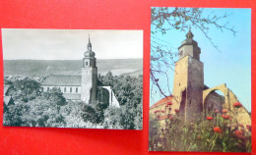
[{"label": "long tiled nave roof of the church in the black-and-white postcard", "polygon": [[41,85],[80,86],[81,76],[51,75],[45,78]]}]

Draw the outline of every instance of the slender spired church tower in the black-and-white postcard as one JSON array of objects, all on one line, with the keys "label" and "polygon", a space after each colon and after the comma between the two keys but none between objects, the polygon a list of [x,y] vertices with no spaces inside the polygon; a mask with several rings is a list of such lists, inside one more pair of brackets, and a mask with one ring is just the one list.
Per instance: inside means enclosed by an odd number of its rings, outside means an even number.
[{"label": "slender spired church tower in the black-and-white postcard", "polygon": [[97,87],[96,54],[92,51],[90,36],[87,47],[88,51],[84,54],[81,72],[81,101],[90,104],[96,101]]}]

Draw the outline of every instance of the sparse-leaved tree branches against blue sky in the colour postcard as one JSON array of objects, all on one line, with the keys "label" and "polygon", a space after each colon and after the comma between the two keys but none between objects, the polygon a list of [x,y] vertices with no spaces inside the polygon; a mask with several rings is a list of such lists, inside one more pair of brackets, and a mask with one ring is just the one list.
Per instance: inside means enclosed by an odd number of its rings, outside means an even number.
[{"label": "sparse-leaved tree branches against blue sky in the colour postcard", "polygon": [[[220,51],[218,46],[209,35],[210,27],[214,26],[221,31],[227,30],[235,34],[233,27],[227,25],[228,22],[223,24],[228,15],[217,16],[213,13],[206,15],[203,12],[204,9],[202,8],[152,8],[151,81],[153,85],[157,86],[160,94],[165,97],[169,94],[163,91],[158,76],[161,75],[168,78],[166,72],[162,71],[162,68],[173,70],[174,58],[178,53],[173,52],[164,40],[158,38],[156,36],[157,33],[164,35],[171,30],[187,31],[192,26],[200,29],[218,51]],[[170,93],[169,90],[168,93]]]}]

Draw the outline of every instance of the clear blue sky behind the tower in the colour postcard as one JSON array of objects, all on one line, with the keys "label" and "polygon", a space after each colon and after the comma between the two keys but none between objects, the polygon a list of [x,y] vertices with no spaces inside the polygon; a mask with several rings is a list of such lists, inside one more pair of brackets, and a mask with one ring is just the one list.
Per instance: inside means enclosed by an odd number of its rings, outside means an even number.
[{"label": "clear blue sky behind the tower in the colour postcard", "polygon": [[[201,48],[200,60],[204,63],[205,84],[209,87],[214,87],[226,83],[226,86],[236,95],[245,108],[251,111],[251,10],[205,8],[203,16],[208,14],[220,16],[225,13],[228,16],[221,23],[225,24],[228,21],[227,26],[233,26],[236,34],[233,35],[230,31],[222,31],[213,26],[210,26],[209,29],[209,35],[212,37],[213,42],[218,45],[220,51],[214,48],[202,31],[191,26],[194,34],[193,39],[198,42],[198,46]],[[164,35],[160,33],[152,34],[151,43],[154,45],[156,38],[160,38],[164,41],[161,43],[164,43],[171,51],[177,53],[177,48],[186,39],[186,33],[187,30],[185,32],[169,30]],[[166,71],[169,78],[159,76],[160,85],[165,86],[164,91],[166,94],[169,91],[171,94],[173,71],[166,68],[162,70]],[[169,91],[166,88],[166,81],[168,81]],[[153,93],[151,93],[150,105],[163,98],[156,86],[152,88]]]}]

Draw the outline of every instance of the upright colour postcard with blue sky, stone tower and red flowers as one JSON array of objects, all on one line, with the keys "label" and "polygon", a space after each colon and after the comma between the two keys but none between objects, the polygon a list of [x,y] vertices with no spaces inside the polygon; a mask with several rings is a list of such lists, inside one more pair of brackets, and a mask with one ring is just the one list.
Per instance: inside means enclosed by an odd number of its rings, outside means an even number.
[{"label": "upright colour postcard with blue sky, stone tower and red flowers", "polygon": [[149,150],[251,152],[251,10],[151,11]]}]

